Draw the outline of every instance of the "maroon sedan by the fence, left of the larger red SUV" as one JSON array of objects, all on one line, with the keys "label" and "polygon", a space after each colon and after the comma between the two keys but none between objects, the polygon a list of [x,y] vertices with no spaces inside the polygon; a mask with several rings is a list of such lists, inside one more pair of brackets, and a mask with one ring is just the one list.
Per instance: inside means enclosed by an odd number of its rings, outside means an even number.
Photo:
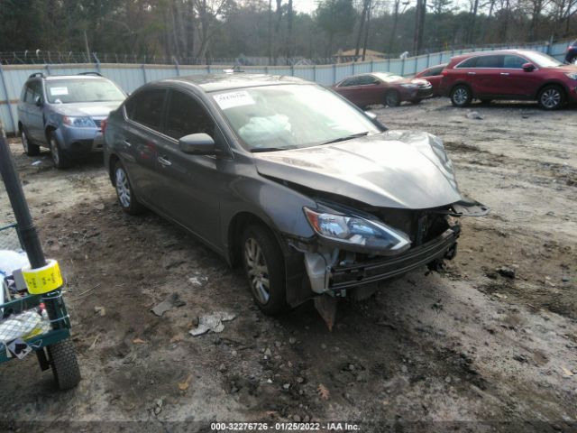
[{"label": "maroon sedan by the fence, left of the larger red SUV", "polygon": [[402,78],[391,72],[375,72],[344,78],[333,90],[364,108],[373,104],[398,106],[403,101],[418,104],[433,95],[431,83],[422,78]]}]

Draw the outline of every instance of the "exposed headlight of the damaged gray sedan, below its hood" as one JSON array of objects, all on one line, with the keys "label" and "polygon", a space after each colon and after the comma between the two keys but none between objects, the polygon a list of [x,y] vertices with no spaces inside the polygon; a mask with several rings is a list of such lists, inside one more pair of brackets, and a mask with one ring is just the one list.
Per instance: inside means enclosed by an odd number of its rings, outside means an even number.
[{"label": "exposed headlight of the damaged gray sedan, below its hood", "polygon": [[408,235],[379,221],[353,215],[332,214],[303,207],[317,235],[336,242],[400,253],[411,241]]}]

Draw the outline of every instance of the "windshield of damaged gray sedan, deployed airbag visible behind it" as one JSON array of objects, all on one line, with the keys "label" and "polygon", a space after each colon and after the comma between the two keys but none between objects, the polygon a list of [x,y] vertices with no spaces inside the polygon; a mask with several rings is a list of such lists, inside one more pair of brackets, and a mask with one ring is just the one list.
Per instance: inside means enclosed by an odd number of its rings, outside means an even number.
[{"label": "windshield of damaged gray sedan, deployed airbag visible behind it", "polygon": [[280,85],[213,95],[252,152],[309,147],[361,134],[379,134],[369,118],[325,88]]}]

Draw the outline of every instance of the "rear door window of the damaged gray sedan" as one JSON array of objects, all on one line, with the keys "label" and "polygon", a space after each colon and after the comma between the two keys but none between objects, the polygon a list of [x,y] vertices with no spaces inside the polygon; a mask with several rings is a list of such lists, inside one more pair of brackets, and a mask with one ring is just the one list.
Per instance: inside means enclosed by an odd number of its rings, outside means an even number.
[{"label": "rear door window of the damaged gray sedan", "polygon": [[165,88],[150,88],[138,92],[126,101],[126,116],[138,124],[160,131],[166,94]]}]

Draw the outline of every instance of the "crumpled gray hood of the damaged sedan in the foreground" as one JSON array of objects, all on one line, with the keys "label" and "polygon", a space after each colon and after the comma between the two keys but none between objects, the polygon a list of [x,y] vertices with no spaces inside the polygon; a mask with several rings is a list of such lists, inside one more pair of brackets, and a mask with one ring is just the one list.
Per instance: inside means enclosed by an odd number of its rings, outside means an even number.
[{"label": "crumpled gray hood of the damaged sedan in the foreground", "polygon": [[434,135],[388,131],[343,143],[254,153],[262,176],[374,207],[424,209],[462,200],[453,164]]}]

